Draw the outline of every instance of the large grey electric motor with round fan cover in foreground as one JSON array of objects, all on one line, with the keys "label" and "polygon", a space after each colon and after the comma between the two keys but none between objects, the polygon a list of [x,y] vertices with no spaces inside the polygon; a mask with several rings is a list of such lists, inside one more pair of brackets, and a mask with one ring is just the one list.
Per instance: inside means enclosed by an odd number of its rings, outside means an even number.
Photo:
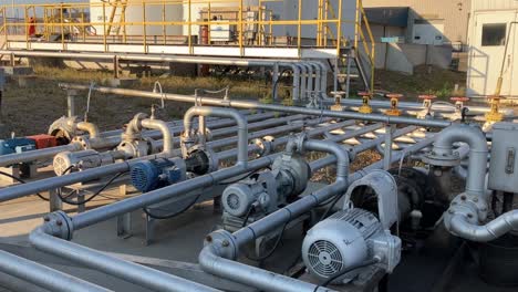
[{"label": "large grey electric motor with round fan cover in foreground", "polygon": [[[387,272],[401,258],[401,239],[384,230],[377,218],[363,209],[335,212],[315,225],[302,243],[302,258],[309,272],[321,281],[334,278],[346,269],[379,258],[376,268]],[[333,283],[344,283],[372,269],[345,273]]]}]

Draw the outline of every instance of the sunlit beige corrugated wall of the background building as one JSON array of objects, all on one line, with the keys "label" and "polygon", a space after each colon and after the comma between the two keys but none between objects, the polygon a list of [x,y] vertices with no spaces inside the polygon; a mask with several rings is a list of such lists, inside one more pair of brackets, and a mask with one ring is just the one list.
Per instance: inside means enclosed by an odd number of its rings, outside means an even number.
[{"label": "sunlit beige corrugated wall of the background building", "polygon": [[410,7],[424,19],[444,19],[444,34],[448,41],[466,43],[470,0],[363,0],[363,6]]}]

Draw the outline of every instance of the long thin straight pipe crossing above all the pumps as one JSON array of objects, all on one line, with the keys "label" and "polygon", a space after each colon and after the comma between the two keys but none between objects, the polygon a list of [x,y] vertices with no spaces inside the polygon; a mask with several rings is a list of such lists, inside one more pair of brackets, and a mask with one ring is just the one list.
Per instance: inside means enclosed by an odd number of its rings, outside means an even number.
[{"label": "long thin straight pipe crossing above all the pumps", "polygon": [[[77,85],[77,84],[61,84],[64,88],[75,88],[75,90],[89,90],[89,85]],[[235,108],[247,108],[247,109],[265,109],[273,112],[283,112],[292,114],[303,114],[303,115],[314,115],[314,116],[327,116],[335,118],[352,118],[359,121],[371,121],[371,122],[382,122],[386,124],[410,124],[425,127],[448,127],[452,125],[452,122],[438,121],[438,119],[419,119],[412,117],[401,117],[401,116],[385,116],[385,115],[375,115],[375,114],[360,114],[352,112],[334,112],[334,111],[324,111],[324,109],[314,109],[297,106],[283,106],[274,104],[261,104],[252,101],[222,101],[219,98],[203,97],[203,96],[188,96],[180,94],[156,94],[153,92],[145,91],[135,91],[135,90],[124,90],[124,88],[112,88],[112,87],[95,87],[94,88],[101,93],[107,94],[117,94],[125,96],[138,96],[146,98],[165,98],[168,101],[184,102],[184,103],[200,103],[204,105],[213,106],[224,106],[224,107],[235,107]]]}]

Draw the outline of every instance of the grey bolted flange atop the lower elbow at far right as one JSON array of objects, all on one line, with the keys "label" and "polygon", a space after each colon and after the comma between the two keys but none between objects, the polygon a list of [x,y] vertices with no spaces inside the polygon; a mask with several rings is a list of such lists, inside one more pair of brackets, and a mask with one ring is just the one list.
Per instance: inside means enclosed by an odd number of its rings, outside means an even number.
[{"label": "grey bolted flange atop the lower elbow at far right", "polygon": [[487,219],[488,206],[486,200],[476,195],[460,194],[452,200],[448,210],[444,213],[444,225],[450,230],[454,216],[463,216],[472,225],[479,225]]}]

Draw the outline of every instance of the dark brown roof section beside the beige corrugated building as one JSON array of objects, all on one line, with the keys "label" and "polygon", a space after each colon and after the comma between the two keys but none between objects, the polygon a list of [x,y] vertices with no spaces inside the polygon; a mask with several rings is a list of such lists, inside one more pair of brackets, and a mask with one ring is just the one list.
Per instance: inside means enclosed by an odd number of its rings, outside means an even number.
[{"label": "dark brown roof section beside the beige corrugated building", "polygon": [[365,15],[372,24],[406,28],[408,25],[408,7],[365,8]]}]

